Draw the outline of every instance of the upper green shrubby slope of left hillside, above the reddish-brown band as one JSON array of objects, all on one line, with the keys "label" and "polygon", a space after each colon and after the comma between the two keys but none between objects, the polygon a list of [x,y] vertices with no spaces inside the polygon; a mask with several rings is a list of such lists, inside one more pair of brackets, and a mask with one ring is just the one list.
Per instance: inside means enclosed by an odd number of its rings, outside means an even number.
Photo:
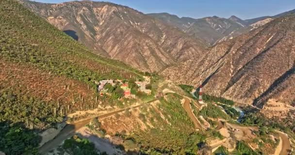
[{"label": "upper green shrubby slope of left hillside, above the reddish-brown band", "polygon": [[[139,75],[121,62],[91,53],[15,1],[1,1],[1,6],[0,56],[3,59],[30,63],[89,85],[94,85],[93,80],[102,78],[130,78],[131,75]],[[16,12],[22,16],[14,16]]]}]

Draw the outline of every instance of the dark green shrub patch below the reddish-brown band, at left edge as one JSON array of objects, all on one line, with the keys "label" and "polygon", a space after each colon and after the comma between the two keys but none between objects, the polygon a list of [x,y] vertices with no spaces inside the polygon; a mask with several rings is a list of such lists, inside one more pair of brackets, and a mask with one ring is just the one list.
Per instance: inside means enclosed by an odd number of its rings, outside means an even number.
[{"label": "dark green shrub patch below the reddish-brown band, at left edge", "polygon": [[27,127],[46,128],[62,121],[58,113],[54,116],[54,105],[44,101],[18,95],[11,90],[0,91],[0,122],[24,123]]}]

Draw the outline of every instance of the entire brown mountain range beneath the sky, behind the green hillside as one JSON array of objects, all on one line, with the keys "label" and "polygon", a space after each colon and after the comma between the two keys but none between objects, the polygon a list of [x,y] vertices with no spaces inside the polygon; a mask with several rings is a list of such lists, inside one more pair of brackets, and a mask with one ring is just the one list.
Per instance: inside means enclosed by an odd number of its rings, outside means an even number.
[{"label": "entire brown mountain range beneath the sky, behind the green hillside", "polygon": [[242,20],[143,14],[109,2],[20,0],[94,53],[259,108],[292,103],[294,14]]}]

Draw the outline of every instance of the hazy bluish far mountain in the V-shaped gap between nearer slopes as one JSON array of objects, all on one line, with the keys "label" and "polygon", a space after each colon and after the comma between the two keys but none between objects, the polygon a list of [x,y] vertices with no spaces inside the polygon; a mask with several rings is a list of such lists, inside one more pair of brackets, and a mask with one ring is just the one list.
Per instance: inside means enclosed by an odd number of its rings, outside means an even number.
[{"label": "hazy bluish far mountain in the V-shaped gap between nearer slopes", "polygon": [[148,15],[177,27],[208,45],[213,45],[216,41],[228,36],[232,31],[248,26],[246,22],[236,16],[231,16],[229,19],[217,16],[194,19],[190,17],[180,18],[167,13]]}]

